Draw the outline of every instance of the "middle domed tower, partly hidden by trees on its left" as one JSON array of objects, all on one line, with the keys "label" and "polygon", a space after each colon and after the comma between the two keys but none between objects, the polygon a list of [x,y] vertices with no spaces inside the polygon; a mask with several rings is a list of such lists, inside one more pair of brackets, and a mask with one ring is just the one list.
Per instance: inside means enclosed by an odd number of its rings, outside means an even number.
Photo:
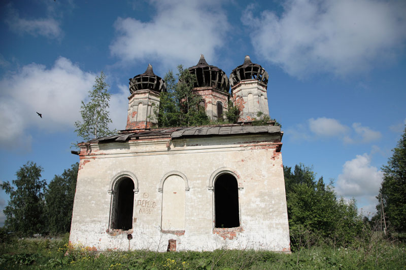
[{"label": "middle domed tower, partly hidden by trees on its left", "polygon": [[193,91],[201,97],[200,106],[205,107],[210,120],[224,119],[230,89],[227,75],[217,66],[209,65],[202,54],[197,65],[188,69],[196,75]]}]

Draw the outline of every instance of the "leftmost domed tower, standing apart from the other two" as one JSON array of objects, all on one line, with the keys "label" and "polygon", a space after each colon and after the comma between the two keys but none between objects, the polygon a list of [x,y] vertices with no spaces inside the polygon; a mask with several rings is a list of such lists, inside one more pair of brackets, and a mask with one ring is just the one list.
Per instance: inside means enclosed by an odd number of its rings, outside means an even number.
[{"label": "leftmost domed tower, standing apart from the other two", "polygon": [[149,129],[158,124],[159,94],[166,91],[166,84],[154,74],[148,64],[144,73],[129,79],[130,96],[126,130]]}]

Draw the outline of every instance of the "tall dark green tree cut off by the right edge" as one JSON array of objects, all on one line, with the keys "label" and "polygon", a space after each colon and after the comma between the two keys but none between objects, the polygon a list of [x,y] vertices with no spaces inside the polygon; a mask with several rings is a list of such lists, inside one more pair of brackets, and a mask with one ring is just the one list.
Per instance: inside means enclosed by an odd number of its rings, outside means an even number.
[{"label": "tall dark green tree cut off by the right edge", "polygon": [[[388,165],[382,167],[384,179],[379,190],[385,216],[397,232],[406,231],[406,127]],[[380,200],[380,195],[377,199]],[[381,205],[377,205],[380,215]]]}]

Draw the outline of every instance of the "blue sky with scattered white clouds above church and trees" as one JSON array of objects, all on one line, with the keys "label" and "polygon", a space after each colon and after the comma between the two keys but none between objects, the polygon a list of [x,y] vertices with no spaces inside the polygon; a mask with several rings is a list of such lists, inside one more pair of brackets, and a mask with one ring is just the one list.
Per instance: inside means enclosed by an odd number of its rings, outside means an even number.
[{"label": "blue sky with scattered white clouds above church and trees", "polygon": [[[124,129],[128,78],[204,54],[227,74],[250,55],[270,75],[284,165],[313,166],[374,212],[381,167],[406,121],[404,1],[2,1],[0,181],[27,161],[43,178],[79,161],[71,143],[95,76]],[[43,114],[40,119],[36,111]],[[0,191],[0,210],[8,197]],[[0,213],[0,225],[4,214]]]}]

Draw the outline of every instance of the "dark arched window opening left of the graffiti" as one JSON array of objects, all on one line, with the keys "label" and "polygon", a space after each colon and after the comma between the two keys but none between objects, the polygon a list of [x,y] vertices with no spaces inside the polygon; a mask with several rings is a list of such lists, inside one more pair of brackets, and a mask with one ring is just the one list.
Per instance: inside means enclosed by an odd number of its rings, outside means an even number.
[{"label": "dark arched window opening left of the graffiti", "polygon": [[117,181],[114,186],[113,200],[111,228],[131,229],[134,207],[134,182],[130,178]]}]

